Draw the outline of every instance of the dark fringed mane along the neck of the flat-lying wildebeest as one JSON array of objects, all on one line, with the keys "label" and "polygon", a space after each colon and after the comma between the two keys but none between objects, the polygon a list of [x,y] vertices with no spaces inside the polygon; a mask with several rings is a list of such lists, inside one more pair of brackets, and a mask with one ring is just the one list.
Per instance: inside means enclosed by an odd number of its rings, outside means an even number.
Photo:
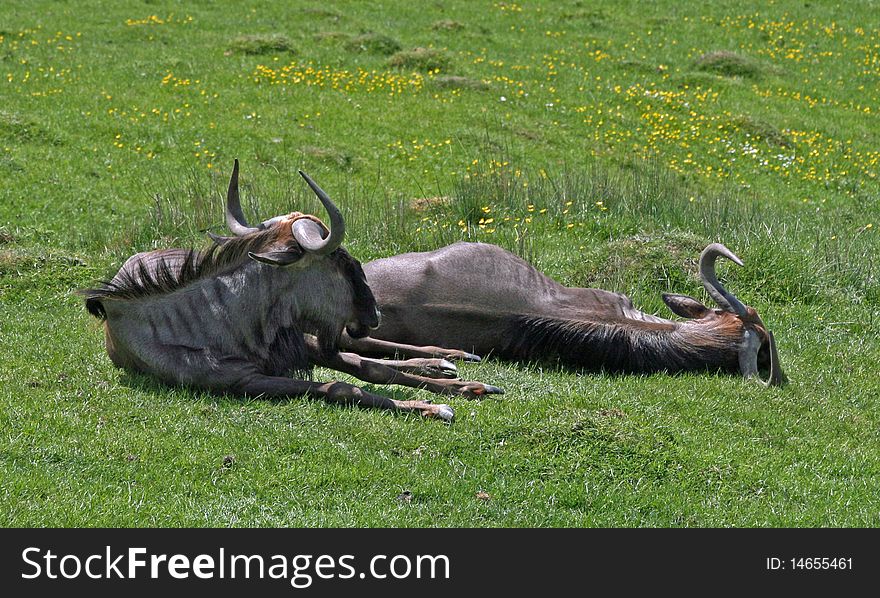
[{"label": "dark fringed mane along the neck of the flat-lying wildebeest", "polygon": [[[696,337],[694,336],[696,335]],[[736,336],[723,329],[650,329],[635,323],[515,318],[499,351],[509,359],[557,359],[568,367],[620,373],[738,371]]]}]

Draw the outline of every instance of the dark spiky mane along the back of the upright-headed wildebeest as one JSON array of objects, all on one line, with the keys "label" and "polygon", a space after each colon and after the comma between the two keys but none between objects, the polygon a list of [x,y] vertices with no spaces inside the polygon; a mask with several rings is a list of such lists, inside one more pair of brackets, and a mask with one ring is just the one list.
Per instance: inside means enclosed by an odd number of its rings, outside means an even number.
[{"label": "dark spiky mane along the back of the upright-headed wildebeest", "polygon": [[215,276],[239,264],[248,252],[263,251],[277,231],[267,229],[244,237],[234,237],[222,245],[212,244],[204,251],[187,249],[181,260],[158,260],[150,267],[145,260],[131,270],[120,270],[112,279],[103,280],[92,289],[79,294],[86,298],[86,309],[96,318],[105,319],[101,300],[140,299],[173,293],[203,278]]}]

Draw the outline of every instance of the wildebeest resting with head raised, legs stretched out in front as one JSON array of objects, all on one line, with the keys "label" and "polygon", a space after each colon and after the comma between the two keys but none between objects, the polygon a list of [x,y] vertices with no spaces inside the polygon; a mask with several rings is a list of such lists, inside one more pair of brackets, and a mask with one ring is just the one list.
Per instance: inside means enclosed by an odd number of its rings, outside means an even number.
[{"label": "wildebeest resting with head raised, legs stretched out in front", "polygon": [[449,379],[442,359],[379,361],[338,350],[343,329],[360,338],[379,325],[360,263],[341,246],[345,221],[326,193],[300,172],[330,216],[293,212],[247,225],[238,197],[238,160],[227,193],[236,237],[204,252],[138,253],[112,280],[83,291],[104,320],[115,365],[170,384],[247,395],[313,395],[327,401],[418,411],[451,420],[448,405],[396,401],[342,382],[304,377],[320,365],[379,384],[479,397],[501,390]]}]

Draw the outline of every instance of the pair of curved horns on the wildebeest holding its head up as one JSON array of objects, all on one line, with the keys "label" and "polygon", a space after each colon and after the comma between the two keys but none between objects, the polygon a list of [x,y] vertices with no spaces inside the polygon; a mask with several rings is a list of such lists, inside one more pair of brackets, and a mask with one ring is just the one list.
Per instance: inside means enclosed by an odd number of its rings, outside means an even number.
[{"label": "pair of curved horns on the wildebeest holding its head up", "polygon": [[[318,196],[318,199],[321,200],[324,209],[327,210],[327,214],[330,216],[330,234],[324,238],[324,229],[318,223],[308,218],[300,218],[291,226],[293,237],[309,253],[327,255],[342,245],[342,240],[345,237],[345,219],[324,190],[302,170],[299,173],[306,180],[309,187],[312,188],[312,191],[315,192],[315,195]],[[261,222],[257,226],[250,226],[247,223],[244,212],[241,210],[241,200],[238,194],[238,160],[235,160],[232,167],[232,178],[229,180],[229,189],[226,192],[226,224],[229,226],[229,230],[236,236],[241,237],[265,230],[274,221],[275,219],[273,218]],[[211,238],[222,242],[222,237],[211,235]]]}]

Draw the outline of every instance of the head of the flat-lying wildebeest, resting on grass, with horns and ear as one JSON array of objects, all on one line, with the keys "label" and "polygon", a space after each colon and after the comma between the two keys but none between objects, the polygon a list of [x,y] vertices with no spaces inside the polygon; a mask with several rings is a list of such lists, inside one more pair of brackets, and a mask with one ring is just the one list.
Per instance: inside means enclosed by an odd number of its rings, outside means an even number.
[{"label": "head of the flat-lying wildebeest, resting on grass, with horns and ear", "polygon": [[700,280],[709,296],[718,304],[719,309],[706,307],[698,300],[687,295],[664,294],[663,301],[669,308],[685,318],[691,318],[696,325],[712,325],[741,331],[742,342],[739,350],[739,370],[746,378],[757,376],[759,370],[768,372],[767,380],[761,382],[767,386],[777,386],[785,381],[785,375],[779,364],[776,352],[776,341],[773,333],[767,328],[754,308],[744,305],[733,293],[725,289],[715,274],[715,260],[725,257],[742,266],[743,262],[727,247],[713,243],[700,255]]}]

